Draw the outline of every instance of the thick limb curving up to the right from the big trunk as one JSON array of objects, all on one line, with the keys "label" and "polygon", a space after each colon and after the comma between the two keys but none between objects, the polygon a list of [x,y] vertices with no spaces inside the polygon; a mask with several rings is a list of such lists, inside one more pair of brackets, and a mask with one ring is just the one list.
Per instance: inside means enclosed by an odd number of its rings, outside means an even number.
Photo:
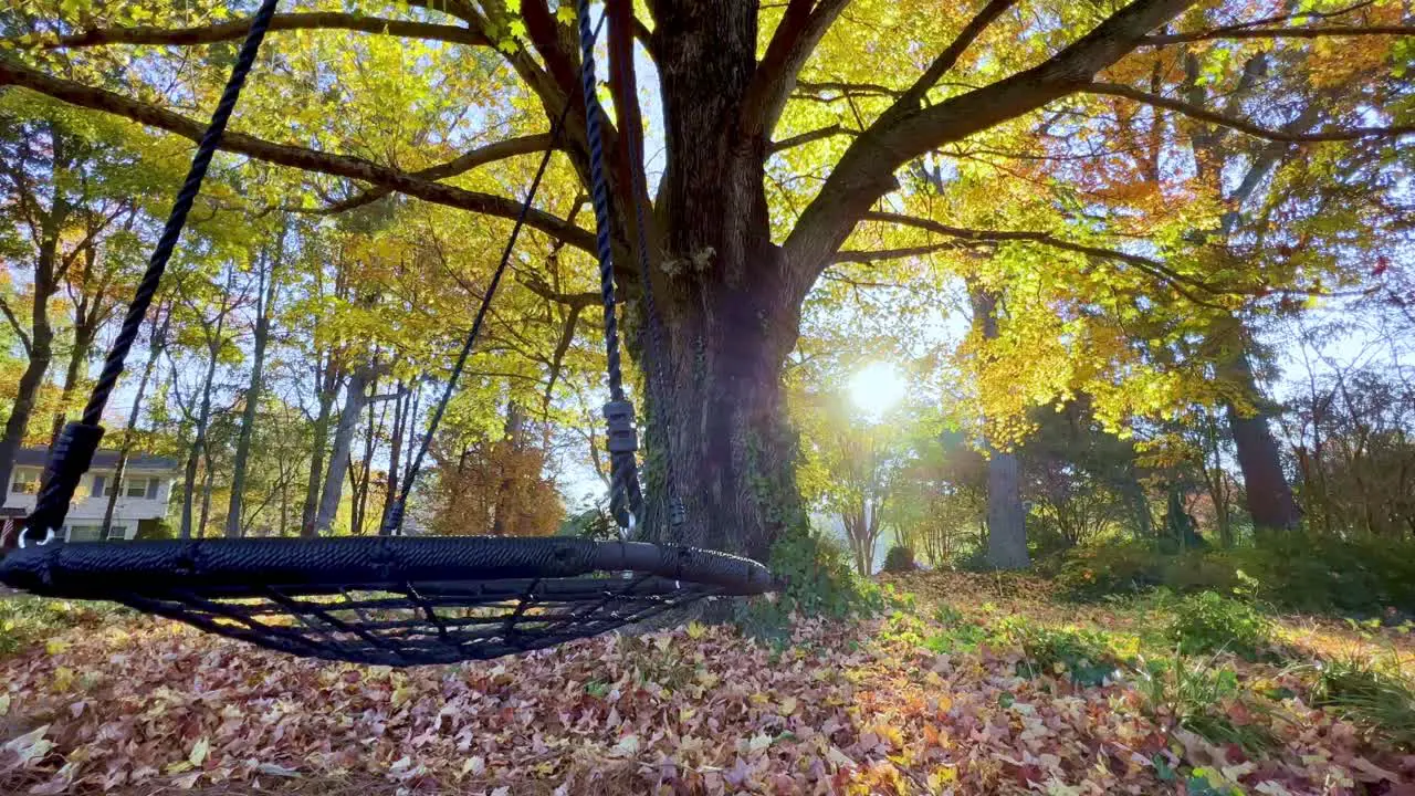
[{"label": "thick limb curving up to the right from the big trunk", "polygon": [[1135,0],[1037,67],[930,108],[886,112],[855,139],[782,244],[792,300],[805,297],[850,229],[896,188],[899,167],[1078,91],[1196,1]]}]

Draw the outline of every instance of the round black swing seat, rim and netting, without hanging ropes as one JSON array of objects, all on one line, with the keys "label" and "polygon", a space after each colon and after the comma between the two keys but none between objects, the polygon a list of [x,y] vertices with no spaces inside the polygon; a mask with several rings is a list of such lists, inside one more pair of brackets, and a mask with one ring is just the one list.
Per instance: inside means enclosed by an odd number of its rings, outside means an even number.
[{"label": "round black swing seat, rim and netting, without hanging ropes", "polygon": [[42,545],[6,557],[0,582],[115,601],[297,656],[385,666],[522,653],[771,588],[764,567],[722,552],[495,537]]}]

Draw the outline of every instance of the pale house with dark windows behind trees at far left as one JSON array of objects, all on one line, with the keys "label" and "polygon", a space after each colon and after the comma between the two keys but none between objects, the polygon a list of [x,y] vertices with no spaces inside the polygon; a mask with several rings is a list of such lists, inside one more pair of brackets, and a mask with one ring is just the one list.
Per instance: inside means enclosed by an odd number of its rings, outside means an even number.
[{"label": "pale house with dark windows behind trees at far left", "polygon": [[[40,474],[50,457],[48,448],[21,448],[14,460],[14,473],[6,484],[0,523],[18,525],[34,508],[40,491]],[[67,541],[133,540],[147,535],[167,517],[167,499],[177,480],[175,459],[129,453],[123,483],[115,483],[117,450],[99,450],[93,466],[79,480],[68,518],[64,521]],[[103,534],[103,514],[108,500],[117,491],[113,506],[113,525]]]}]

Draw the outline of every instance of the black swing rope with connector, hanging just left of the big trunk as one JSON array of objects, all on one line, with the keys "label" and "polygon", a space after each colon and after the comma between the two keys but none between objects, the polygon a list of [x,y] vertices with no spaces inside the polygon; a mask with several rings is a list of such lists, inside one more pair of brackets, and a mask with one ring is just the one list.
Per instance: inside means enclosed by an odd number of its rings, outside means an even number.
[{"label": "black swing rope with connector, hanging just left of the big trunk", "polygon": [[606,446],[610,450],[610,513],[627,530],[634,517],[644,516],[644,496],[638,486],[638,462],[634,452],[634,406],[624,398],[624,373],[620,361],[618,317],[614,313],[614,252],[610,245],[610,188],[604,174],[604,109],[600,106],[594,79],[594,40],[590,28],[590,0],[579,0],[580,75],[584,91],[584,135],[590,154],[590,198],[594,207],[594,251],[600,261],[600,300],[604,305],[604,357],[610,382],[610,402],[604,405],[608,421]]}]

